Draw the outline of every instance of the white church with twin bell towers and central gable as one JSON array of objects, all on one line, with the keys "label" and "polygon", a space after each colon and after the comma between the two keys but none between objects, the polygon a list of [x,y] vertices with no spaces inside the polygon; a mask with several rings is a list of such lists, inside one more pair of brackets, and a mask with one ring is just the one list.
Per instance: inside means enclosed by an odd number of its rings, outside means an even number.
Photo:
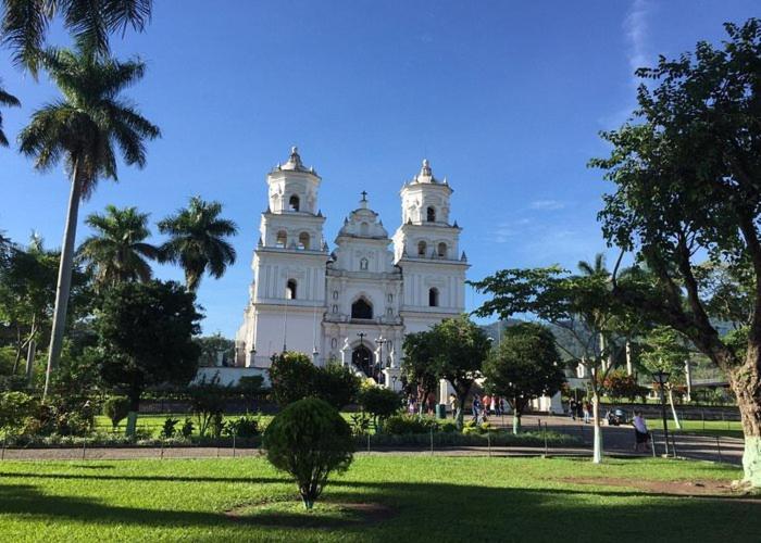
[{"label": "white church with twin bell towers and central gable", "polygon": [[465,306],[469,265],[461,228],[450,222],[446,178],[435,178],[423,161],[401,188],[401,225],[392,237],[362,192],[333,250],[317,204],[322,178],[296,148],[266,182],[236,365],[264,369],[273,354],[300,351],[316,365],[340,362],[398,388],[404,336]]}]

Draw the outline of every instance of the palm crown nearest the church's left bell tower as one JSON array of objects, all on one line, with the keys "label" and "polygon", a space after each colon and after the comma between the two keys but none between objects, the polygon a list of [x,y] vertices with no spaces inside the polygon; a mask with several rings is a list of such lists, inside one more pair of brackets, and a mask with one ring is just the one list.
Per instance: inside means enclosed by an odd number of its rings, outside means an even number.
[{"label": "palm crown nearest the church's left bell tower", "polygon": [[238,233],[233,220],[220,218],[222,204],[190,199],[185,210],[159,223],[159,230],[170,240],[161,247],[162,262],[174,262],[185,270],[185,285],[191,292],[205,272],[219,279],[235,263],[235,249],[224,238]]}]

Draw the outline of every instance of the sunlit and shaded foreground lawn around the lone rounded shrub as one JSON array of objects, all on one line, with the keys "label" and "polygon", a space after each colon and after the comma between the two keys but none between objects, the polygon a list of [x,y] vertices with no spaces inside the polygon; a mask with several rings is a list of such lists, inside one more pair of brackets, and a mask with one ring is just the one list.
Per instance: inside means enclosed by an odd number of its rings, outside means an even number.
[{"label": "sunlit and shaded foreground lawn around the lone rounded shrub", "polygon": [[[571,459],[363,456],[334,479],[324,507],[319,502],[309,514],[294,502],[294,483],[262,458],[4,462],[0,534],[9,542],[401,543],[754,541],[761,532],[761,503],[649,494],[625,483],[563,480],[569,477],[728,481],[740,472],[663,459],[595,466]],[[366,525],[334,514],[342,503],[380,504],[390,517]],[[225,514],[237,507],[240,517]]]}]

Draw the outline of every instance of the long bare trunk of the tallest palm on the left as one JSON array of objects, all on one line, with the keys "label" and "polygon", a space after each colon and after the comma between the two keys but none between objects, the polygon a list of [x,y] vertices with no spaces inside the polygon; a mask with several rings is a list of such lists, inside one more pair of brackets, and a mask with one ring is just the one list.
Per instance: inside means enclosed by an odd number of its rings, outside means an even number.
[{"label": "long bare trunk of the tallest palm on the left", "polygon": [[58,269],[58,287],[55,289],[55,308],[53,310],[53,328],[50,334],[50,349],[48,350],[48,369],[45,375],[45,390],[42,402],[48,396],[50,389],[50,376],[58,367],[63,346],[63,332],[66,326],[66,311],[68,308],[68,294],[72,289],[72,268],[74,265],[74,239],[76,238],[76,225],[79,214],[79,200],[82,199],[82,181],[77,175],[77,161],[72,168],[72,191],[68,197],[68,213],[66,215],[66,228],[63,230],[61,247],[61,262]]}]

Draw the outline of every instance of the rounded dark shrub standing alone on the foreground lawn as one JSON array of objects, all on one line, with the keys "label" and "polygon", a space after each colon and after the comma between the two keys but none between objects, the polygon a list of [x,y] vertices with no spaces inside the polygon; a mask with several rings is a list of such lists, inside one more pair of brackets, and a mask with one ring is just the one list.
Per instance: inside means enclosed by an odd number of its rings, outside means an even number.
[{"label": "rounded dark shrub standing alone on the foreground lawn", "polygon": [[288,405],[270,422],[264,447],[270,463],[296,480],[304,507],[311,509],[328,475],[351,464],[354,442],[338,411],[308,397]]}]

